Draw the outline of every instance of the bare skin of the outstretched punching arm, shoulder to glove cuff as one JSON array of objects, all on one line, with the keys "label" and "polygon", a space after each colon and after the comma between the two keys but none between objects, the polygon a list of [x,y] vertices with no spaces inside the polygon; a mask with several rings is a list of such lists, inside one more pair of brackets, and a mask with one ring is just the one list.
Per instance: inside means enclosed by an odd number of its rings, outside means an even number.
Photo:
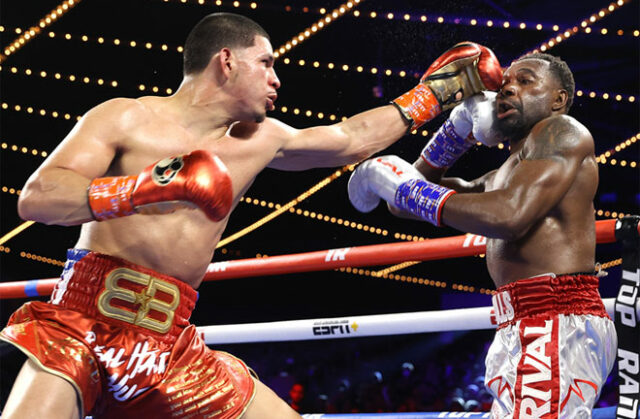
[{"label": "bare skin of the outstretched punching arm, shoulder to glove cuff", "polygon": [[392,105],[359,113],[334,125],[294,129],[269,121],[267,135],[281,144],[269,167],[306,170],[356,163],[383,150],[402,137],[407,120]]}]

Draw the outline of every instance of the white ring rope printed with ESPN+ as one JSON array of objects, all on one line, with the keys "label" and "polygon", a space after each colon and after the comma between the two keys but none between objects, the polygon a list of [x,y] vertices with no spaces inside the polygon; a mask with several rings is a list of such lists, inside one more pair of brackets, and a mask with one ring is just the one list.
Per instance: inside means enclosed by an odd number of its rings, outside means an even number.
[{"label": "white ring rope printed with ESPN+", "polygon": [[[614,298],[602,300],[613,318]],[[494,329],[492,307],[201,326],[207,345]]]}]

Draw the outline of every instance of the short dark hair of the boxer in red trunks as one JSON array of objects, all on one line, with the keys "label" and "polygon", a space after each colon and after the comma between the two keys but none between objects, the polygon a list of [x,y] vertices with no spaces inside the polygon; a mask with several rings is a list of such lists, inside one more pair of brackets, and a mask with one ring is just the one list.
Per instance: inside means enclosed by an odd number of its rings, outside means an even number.
[{"label": "short dark hair of the boxer in red trunks", "polygon": [[267,31],[248,17],[235,13],[212,13],[191,29],[184,44],[185,75],[205,69],[213,54],[221,48],[248,48],[256,35],[269,39]]}]

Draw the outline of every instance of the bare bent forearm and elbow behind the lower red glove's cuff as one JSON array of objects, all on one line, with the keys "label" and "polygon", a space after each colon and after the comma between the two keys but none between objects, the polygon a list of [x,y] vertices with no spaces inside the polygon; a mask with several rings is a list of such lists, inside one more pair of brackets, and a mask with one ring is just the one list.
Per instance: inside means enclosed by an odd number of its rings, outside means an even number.
[{"label": "bare bent forearm and elbow behind the lower red glove's cuff", "polygon": [[22,219],[43,224],[78,225],[91,221],[87,198],[90,182],[68,169],[37,171],[20,193],[18,214]]}]

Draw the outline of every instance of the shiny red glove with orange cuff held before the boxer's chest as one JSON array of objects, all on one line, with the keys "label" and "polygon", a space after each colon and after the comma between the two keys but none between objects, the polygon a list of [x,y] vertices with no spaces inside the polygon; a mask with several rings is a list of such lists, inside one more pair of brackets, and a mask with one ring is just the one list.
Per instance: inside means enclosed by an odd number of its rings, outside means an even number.
[{"label": "shiny red glove with orange cuff held before the boxer's chest", "polygon": [[97,221],[180,208],[200,208],[210,220],[220,221],[233,200],[226,166],[204,150],[160,160],[138,176],[94,179],[88,194]]}]

